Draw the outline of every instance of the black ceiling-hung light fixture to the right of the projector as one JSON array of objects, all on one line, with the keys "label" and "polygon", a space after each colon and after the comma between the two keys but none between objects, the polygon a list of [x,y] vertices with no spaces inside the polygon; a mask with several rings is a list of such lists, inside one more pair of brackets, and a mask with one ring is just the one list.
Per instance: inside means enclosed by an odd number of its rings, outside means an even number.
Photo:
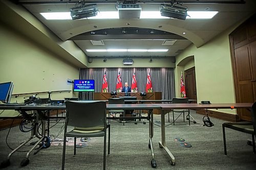
[{"label": "black ceiling-hung light fixture to the right of the projector", "polygon": [[162,16],[185,20],[187,17],[187,8],[174,5],[160,5],[160,13]]}]

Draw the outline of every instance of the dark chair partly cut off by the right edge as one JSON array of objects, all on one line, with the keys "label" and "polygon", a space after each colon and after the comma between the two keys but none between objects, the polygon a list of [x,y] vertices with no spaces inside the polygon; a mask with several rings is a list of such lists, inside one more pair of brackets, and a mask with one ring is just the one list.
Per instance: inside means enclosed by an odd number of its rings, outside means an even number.
[{"label": "dark chair partly cut off by the right edge", "polygon": [[256,135],[256,102],[251,106],[251,120],[252,122],[225,122],[222,124],[222,132],[223,132],[223,143],[224,143],[224,154],[227,155],[227,147],[226,147],[226,134],[225,128],[237,130],[240,132],[251,134],[252,137],[252,148],[253,153],[255,152],[255,135]]}]

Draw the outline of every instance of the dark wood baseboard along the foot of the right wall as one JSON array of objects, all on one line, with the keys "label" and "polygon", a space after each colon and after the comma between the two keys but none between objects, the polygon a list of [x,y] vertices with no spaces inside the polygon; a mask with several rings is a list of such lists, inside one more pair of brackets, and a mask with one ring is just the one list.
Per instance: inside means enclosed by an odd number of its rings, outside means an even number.
[{"label": "dark wood baseboard along the foot of the right wall", "polygon": [[[197,114],[206,116],[206,109],[197,110]],[[239,122],[240,120],[238,114],[224,113],[224,112],[218,112],[213,110],[208,110],[208,116],[219,118],[222,120],[227,120],[229,122]]]}]

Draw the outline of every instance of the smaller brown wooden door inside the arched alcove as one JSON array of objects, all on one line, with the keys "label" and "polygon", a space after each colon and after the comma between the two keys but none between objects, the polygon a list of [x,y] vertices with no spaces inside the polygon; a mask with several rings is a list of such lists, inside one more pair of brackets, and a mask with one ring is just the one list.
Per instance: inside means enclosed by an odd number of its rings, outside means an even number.
[{"label": "smaller brown wooden door inside the arched alcove", "polygon": [[[185,70],[185,90],[188,99],[197,100],[197,85],[195,67]],[[193,103],[197,103],[193,102]]]}]

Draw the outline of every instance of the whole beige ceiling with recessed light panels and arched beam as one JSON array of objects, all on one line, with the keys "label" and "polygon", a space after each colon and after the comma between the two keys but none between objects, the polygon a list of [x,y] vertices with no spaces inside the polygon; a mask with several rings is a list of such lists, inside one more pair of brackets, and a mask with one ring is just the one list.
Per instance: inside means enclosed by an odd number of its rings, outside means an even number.
[{"label": "whole beige ceiling with recessed light panels and arched beam", "polygon": [[[78,1],[18,1],[62,41],[73,40],[89,58],[175,57],[194,43],[200,47],[256,11],[256,1],[183,1],[188,11],[219,11],[211,19],[80,19],[46,20],[40,12],[69,12]],[[121,3],[123,1],[120,1]],[[135,1],[134,1],[135,2]],[[172,1],[136,1],[142,11],[158,11]],[[182,1],[179,1],[182,2]],[[116,11],[116,1],[95,3],[99,11]],[[185,32],[186,34],[182,34]],[[103,43],[94,45],[93,43]],[[165,43],[164,43],[165,42]],[[174,42],[173,45],[168,45]],[[166,44],[167,43],[167,44]],[[87,52],[86,49],[168,49],[167,52]]]}]

